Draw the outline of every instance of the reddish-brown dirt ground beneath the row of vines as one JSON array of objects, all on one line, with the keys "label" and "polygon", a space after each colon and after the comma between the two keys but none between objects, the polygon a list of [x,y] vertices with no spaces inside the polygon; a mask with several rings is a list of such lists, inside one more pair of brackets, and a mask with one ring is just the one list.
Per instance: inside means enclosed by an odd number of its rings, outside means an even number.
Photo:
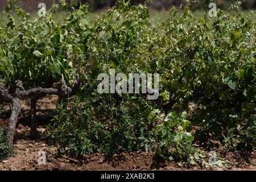
[{"label": "reddish-brown dirt ground beneath the row of vines", "polygon": [[[55,109],[55,98],[44,98],[39,101],[38,110]],[[168,170],[168,171],[180,171],[180,170],[246,170],[256,171],[256,151],[251,154],[242,155],[238,152],[227,153],[225,158],[229,162],[236,163],[236,166],[229,165],[225,168],[201,168],[200,166],[192,167],[180,167],[174,162],[161,162],[156,166],[155,155],[153,152],[133,152],[123,154],[93,154],[84,155],[83,158],[71,158],[67,155],[57,156],[57,148],[50,146],[44,139],[47,128],[44,122],[39,122],[38,132],[42,138],[38,140],[30,140],[29,133],[30,128],[27,122],[26,111],[29,109],[28,101],[23,101],[23,118],[19,119],[16,127],[16,142],[15,151],[16,154],[10,158],[0,162],[0,171],[13,171],[13,170]],[[46,106],[48,105],[48,106]],[[38,115],[42,114],[39,111]],[[47,117],[40,117],[41,120],[48,119]],[[43,118],[43,119],[42,119]],[[7,119],[0,119],[0,127],[7,126]],[[46,165],[39,165],[38,159],[39,151],[47,152]]]}]

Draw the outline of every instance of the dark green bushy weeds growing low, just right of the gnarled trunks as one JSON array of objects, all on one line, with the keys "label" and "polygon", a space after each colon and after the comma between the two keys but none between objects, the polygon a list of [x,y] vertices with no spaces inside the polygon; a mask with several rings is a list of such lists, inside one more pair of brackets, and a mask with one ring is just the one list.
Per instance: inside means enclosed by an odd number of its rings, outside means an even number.
[{"label": "dark green bushy weeds growing low, just right of the gnarled trunks", "polygon": [[154,136],[154,123],[138,112],[142,108],[137,103],[142,101],[112,98],[115,104],[110,107],[108,96],[96,95],[90,95],[93,100],[69,101],[71,109],[58,109],[49,134],[54,142],[71,155],[148,150],[146,139]]}]

